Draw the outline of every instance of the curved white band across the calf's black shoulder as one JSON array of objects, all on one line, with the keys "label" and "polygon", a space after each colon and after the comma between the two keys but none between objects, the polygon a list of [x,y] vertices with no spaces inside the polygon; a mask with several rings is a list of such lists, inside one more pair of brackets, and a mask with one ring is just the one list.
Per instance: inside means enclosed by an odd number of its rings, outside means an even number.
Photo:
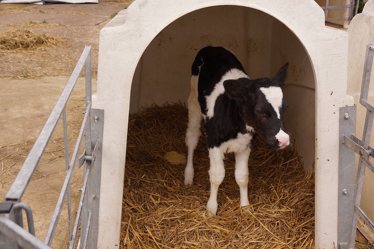
[{"label": "curved white band across the calf's black shoulder", "polygon": [[248,75],[246,75],[243,71],[237,69],[237,68],[232,68],[230,71],[228,71],[226,74],[224,74],[217,84],[215,84],[213,91],[211,92],[210,95],[205,96],[206,100],[206,116],[212,118],[214,116],[214,105],[215,101],[220,96],[225,92],[225,89],[223,87],[223,82],[225,80],[237,80],[240,78],[248,78]]}]

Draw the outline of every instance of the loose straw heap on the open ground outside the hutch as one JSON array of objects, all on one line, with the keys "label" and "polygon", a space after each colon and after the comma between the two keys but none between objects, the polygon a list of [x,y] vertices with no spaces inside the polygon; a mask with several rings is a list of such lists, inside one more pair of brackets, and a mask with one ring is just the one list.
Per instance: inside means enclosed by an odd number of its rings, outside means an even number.
[{"label": "loose straw heap on the open ground outside the hutch", "polygon": [[12,51],[41,47],[55,47],[64,39],[30,30],[8,30],[0,34],[0,50]]}]

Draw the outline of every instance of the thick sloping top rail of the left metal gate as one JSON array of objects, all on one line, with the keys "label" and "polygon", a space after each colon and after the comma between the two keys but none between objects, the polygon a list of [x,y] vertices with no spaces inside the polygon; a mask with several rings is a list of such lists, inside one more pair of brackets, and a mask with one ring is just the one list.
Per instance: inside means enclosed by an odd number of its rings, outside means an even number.
[{"label": "thick sloping top rail of the left metal gate", "polygon": [[85,49],[83,50],[83,53],[80,56],[80,59],[76,67],[74,68],[74,71],[71,74],[67,84],[65,85],[64,90],[62,90],[62,93],[58,98],[56,105],[52,110],[52,113],[48,117],[47,122],[42,129],[42,132],[40,132],[40,135],[36,139],[33,148],[31,149],[24,164],[19,170],[16,179],[13,181],[8,192],[6,193],[6,201],[19,202],[21,200],[21,197],[24,194],[28,183],[30,182],[31,176],[33,175],[36,166],[38,165],[40,158],[42,157],[43,151],[45,150],[48,141],[52,136],[52,132],[56,127],[59,117],[61,116],[62,109],[65,107],[68,98],[73,91],[73,88],[78,80],[79,74],[82,71],[83,65],[85,64],[86,58],[90,51],[91,46],[85,47]]}]

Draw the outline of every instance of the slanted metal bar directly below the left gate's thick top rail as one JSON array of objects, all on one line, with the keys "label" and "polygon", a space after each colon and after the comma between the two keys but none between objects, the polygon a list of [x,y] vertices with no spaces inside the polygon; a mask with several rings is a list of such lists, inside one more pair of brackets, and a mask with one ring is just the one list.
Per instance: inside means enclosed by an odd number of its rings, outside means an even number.
[{"label": "slanted metal bar directly below the left gate's thick top rail", "polygon": [[47,235],[46,235],[46,238],[44,240],[44,243],[47,244],[47,245],[51,245],[53,235],[55,234],[55,231],[56,231],[57,223],[58,223],[58,220],[60,218],[61,211],[62,211],[62,206],[63,206],[64,200],[66,198],[68,185],[70,184],[71,177],[73,176],[74,166],[76,165],[76,161],[77,161],[77,158],[78,158],[79,148],[80,148],[80,145],[82,144],[83,134],[84,134],[85,129],[86,129],[86,124],[90,122],[90,119],[89,119],[90,113],[91,113],[91,102],[88,103],[88,107],[87,107],[86,112],[85,112],[85,117],[83,118],[82,127],[80,128],[79,136],[77,138],[77,143],[76,143],[75,149],[73,151],[73,155],[71,157],[69,170],[66,174],[64,184],[62,185],[60,196],[58,197],[58,201],[57,201],[57,204],[56,204],[56,207],[55,207],[55,212],[53,212],[52,220],[49,224]]}]

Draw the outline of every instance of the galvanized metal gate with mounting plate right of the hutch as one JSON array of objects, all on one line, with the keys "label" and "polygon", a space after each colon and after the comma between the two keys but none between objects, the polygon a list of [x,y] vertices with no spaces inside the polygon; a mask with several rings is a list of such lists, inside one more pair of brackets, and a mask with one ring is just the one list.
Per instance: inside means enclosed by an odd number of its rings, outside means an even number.
[{"label": "galvanized metal gate with mounting plate right of the hutch", "polygon": [[[341,144],[339,150],[338,245],[340,249],[354,249],[358,215],[374,231],[374,224],[360,208],[365,169],[374,172],[374,148],[369,145],[374,120],[374,105],[368,102],[374,45],[367,46],[362,77],[360,104],[366,110],[362,141],[356,137],[356,106],[340,108]],[[359,155],[356,181],[355,154]],[[353,189],[354,188],[354,189]]]}]

